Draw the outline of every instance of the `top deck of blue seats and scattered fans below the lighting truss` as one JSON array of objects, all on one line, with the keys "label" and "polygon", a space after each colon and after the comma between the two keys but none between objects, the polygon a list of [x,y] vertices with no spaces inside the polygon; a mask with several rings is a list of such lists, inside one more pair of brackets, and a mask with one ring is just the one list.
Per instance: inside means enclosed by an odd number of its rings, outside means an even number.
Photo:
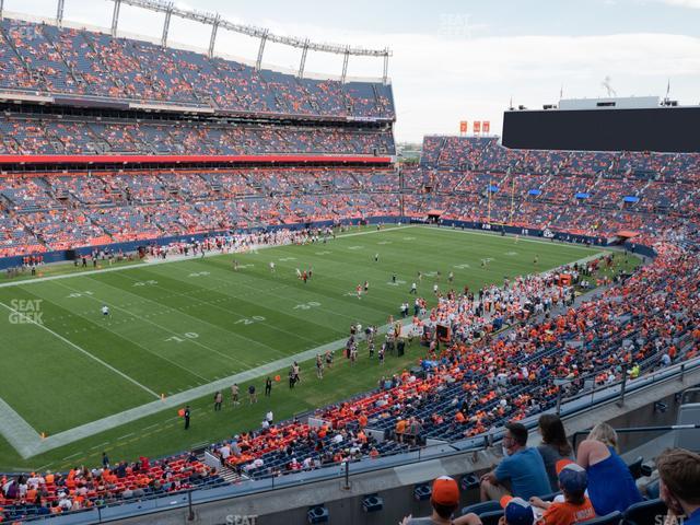
[{"label": "top deck of blue seats and scattered fans below the lighting truss", "polygon": [[215,109],[393,119],[382,83],[298,79],[148,42],[0,21],[0,89]]}]

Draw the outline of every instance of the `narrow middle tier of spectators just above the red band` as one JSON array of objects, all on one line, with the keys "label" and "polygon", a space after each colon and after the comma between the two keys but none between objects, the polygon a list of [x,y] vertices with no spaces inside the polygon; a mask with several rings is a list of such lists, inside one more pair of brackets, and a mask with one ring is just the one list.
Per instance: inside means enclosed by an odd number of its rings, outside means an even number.
[{"label": "narrow middle tier of spectators just above the red band", "polygon": [[394,154],[390,129],[0,117],[11,154]]}]

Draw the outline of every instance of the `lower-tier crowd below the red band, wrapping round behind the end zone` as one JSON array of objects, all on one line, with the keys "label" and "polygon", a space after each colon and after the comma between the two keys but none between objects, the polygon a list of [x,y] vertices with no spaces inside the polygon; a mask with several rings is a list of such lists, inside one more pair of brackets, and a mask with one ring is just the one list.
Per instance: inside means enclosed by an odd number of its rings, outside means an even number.
[{"label": "lower-tier crowd below the red band, wrapping round behind the end zone", "polygon": [[[13,238],[20,238],[16,232],[24,229],[30,238],[44,238],[52,249],[70,245],[71,236],[73,246],[80,246],[91,238],[108,238],[104,235],[115,241],[133,240],[145,238],[147,232],[158,237],[314,219],[395,217],[401,213],[401,202],[402,213],[417,219],[436,214],[443,220],[505,223],[594,237],[611,237],[626,231],[643,238],[657,231],[698,223],[700,185],[682,182],[695,180],[693,177],[679,175],[680,183],[637,180],[643,185],[637,191],[639,201],[622,202],[620,196],[630,192],[630,186],[637,184],[633,180],[420,167],[404,170],[402,187],[396,172],[383,168],[11,175],[0,178],[0,213],[12,225],[9,230],[15,232]],[[532,189],[538,194],[532,195]],[[72,231],[82,233],[71,234],[67,229],[65,238],[54,244],[51,240],[61,236],[54,231],[60,224],[55,218],[85,205],[90,210],[84,215],[91,224],[79,217]],[[144,224],[148,228],[140,230]],[[32,242],[33,246],[40,244]],[[15,244],[16,253],[26,249]],[[3,254],[12,252],[8,246]]]}]

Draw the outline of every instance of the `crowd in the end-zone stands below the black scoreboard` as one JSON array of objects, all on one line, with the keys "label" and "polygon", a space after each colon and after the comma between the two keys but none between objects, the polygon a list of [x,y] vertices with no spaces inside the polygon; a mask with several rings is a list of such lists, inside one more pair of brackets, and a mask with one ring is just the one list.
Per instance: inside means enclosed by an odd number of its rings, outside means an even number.
[{"label": "crowd in the end-zone stands below the black scoreboard", "polygon": [[698,223],[700,155],[534,151],[495,138],[425,137],[404,170],[408,213],[592,236]]}]

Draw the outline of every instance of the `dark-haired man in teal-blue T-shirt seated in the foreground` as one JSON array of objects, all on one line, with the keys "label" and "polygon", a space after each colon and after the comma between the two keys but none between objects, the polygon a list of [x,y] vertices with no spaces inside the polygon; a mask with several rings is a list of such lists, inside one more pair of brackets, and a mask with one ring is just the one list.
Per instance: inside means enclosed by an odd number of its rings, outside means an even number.
[{"label": "dark-haired man in teal-blue T-shirt seated in the foreground", "polygon": [[542,456],[537,448],[527,446],[524,424],[505,425],[503,455],[495,469],[481,476],[481,501],[499,501],[503,495],[527,501],[534,495],[551,492]]}]

